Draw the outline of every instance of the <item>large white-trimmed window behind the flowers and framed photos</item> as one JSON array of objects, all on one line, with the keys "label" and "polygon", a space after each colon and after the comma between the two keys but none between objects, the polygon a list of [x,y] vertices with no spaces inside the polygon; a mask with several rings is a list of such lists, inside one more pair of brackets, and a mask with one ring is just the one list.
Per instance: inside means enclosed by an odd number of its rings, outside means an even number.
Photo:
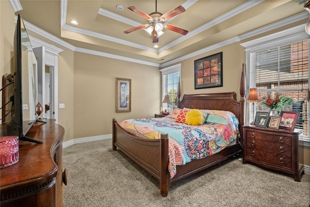
[{"label": "large white-trimmed window behind the flowers and framed photos", "polygon": [[[285,33],[290,33],[289,38]],[[303,33],[305,35],[303,35]],[[294,35],[295,34],[295,35]],[[270,38],[270,39],[268,39]],[[304,27],[295,31],[283,31],[242,44],[247,51],[247,85],[258,89],[259,96],[274,96],[276,92],[293,99],[294,104],[284,108],[299,111],[295,128],[303,129],[303,137],[309,139],[309,56],[310,41]],[[268,41],[266,41],[268,39]],[[248,104],[247,122],[254,119],[254,111],[267,111],[268,108],[257,103],[253,109]]]}]

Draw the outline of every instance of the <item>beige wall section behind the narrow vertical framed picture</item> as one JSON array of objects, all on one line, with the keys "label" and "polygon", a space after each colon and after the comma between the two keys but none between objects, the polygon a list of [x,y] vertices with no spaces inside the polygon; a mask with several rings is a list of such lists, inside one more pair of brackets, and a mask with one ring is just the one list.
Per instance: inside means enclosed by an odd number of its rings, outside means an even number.
[{"label": "beige wall section behind the narrow vertical framed picture", "polygon": [[[158,68],[80,52],[74,59],[74,138],[109,135],[113,118],[154,117],[160,111]],[[131,112],[115,112],[115,78],[131,79]]]}]

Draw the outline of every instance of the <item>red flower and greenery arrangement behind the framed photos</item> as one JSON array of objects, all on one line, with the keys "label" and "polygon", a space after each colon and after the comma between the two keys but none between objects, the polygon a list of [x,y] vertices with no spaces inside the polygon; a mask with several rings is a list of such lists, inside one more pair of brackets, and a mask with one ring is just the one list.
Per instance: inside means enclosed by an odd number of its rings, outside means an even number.
[{"label": "red flower and greenery arrangement behind the framed photos", "polygon": [[272,98],[270,94],[267,97],[262,98],[261,104],[271,111],[281,111],[283,106],[288,106],[294,104],[293,99],[282,96],[281,93],[276,92],[275,97]]}]

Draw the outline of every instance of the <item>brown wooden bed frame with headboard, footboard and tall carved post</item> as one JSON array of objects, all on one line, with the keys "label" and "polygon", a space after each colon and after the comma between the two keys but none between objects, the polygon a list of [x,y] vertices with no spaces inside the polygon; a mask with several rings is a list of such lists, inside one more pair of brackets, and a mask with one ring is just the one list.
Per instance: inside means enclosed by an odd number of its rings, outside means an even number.
[{"label": "brown wooden bed frame with headboard, footboard and tall carved post", "polygon": [[117,122],[112,123],[112,149],[119,148],[125,155],[139,164],[160,182],[160,194],[167,196],[170,185],[192,174],[198,173],[234,155],[241,153],[242,125],[245,121],[245,71],[241,74],[240,101],[236,101],[235,92],[184,95],[178,103],[179,108],[214,109],[231,111],[239,120],[241,138],[217,154],[192,160],[185,165],[176,166],[176,174],[171,178],[168,172],[168,134],[161,133],[160,139],[142,139],[127,133]]}]

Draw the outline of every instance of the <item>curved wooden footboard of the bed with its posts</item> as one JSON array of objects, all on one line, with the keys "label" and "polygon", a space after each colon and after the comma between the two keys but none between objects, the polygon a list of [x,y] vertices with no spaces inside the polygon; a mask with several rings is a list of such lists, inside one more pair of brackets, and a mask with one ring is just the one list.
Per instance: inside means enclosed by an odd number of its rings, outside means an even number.
[{"label": "curved wooden footboard of the bed with its posts", "polygon": [[[142,139],[128,134],[113,118],[112,149],[119,148],[148,173],[160,181],[160,194],[167,196],[170,189],[168,172],[168,134],[161,133],[160,139]],[[158,160],[160,160],[158,162]]]}]

